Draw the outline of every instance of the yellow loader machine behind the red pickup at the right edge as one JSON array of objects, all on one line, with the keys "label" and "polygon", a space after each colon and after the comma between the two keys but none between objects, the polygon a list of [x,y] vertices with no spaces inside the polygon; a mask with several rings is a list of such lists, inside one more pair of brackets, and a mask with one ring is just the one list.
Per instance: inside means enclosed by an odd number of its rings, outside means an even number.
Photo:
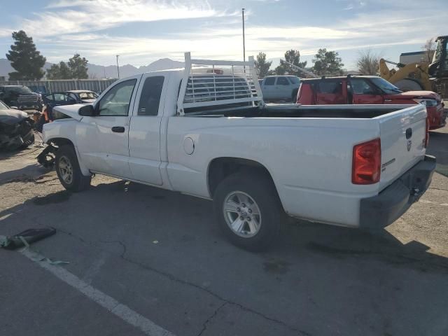
[{"label": "yellow loader machine behind the red pickup at the right edge", "polygon": [[[437,37],[435,42],[437,48],[431,63],[402,64],[381,58],[379,76],[403,91],[433,91],[448,99],[448,35]],[[398,70],[388,69],[387,64],[394,64]]]}]

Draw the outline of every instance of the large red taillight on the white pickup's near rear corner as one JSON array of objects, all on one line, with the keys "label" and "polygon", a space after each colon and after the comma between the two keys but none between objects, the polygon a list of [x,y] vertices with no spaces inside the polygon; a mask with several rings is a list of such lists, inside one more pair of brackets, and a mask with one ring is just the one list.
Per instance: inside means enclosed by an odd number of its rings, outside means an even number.
[{"label": "large red taillight on the white pickup's near rear corner", "polygon": [[374,139],[353,146],[351,183],[373,184],[381,175],[381,140]]}]

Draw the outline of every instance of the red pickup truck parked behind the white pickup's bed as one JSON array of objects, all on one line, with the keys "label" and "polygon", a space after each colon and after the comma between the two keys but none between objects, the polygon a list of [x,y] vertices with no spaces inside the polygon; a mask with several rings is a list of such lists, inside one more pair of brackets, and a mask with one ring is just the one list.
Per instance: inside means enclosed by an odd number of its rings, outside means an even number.
[{"label": "red pickup truck parked behind the white pickup's bed", "polygon": [[377,76],[344,76],[302,79],[297,104],[423,104],[430,130],[446,125],[447,112],[440,96],[431,91],[402,92]]}]

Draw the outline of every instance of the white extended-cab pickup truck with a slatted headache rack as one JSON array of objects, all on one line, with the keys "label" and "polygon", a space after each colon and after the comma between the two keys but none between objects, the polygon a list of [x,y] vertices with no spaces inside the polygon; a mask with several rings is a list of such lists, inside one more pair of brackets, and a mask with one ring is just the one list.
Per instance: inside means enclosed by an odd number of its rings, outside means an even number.
[{"label": "white extended-cab pickup truck with a slatted headache rack", "polygon": [[123,78],[93,105],[55,111],[65,118],[43,134],[67,190],[106,174],[213,200],[225,235],[251,250],[269,245],[283,214],[384,228],[435,169],[423,105],[267,106],[252,58],[187,53],[186,69]]}]

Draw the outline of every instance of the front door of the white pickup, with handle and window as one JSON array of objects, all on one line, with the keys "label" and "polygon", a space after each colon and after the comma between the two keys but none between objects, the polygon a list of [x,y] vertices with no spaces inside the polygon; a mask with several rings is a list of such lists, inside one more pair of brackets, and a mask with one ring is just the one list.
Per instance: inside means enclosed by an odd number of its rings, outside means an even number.
[{"label": "front door of the white pickup, with handle and window", "polygon": [[128,131],[130,106],[141,74],[118,81],[109,87],[94,109],[93,117],[84,117],[83,134],[78,134],[80,155],[94,171],[121,178],[131,178]]}]

